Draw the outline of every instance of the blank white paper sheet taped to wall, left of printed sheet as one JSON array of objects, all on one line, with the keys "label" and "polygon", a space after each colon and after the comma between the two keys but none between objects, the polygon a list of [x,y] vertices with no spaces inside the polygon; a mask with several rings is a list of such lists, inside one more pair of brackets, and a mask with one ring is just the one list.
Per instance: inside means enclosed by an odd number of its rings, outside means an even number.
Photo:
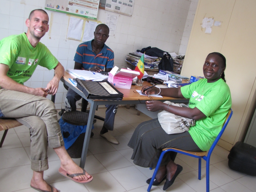
[{"label": "blank white paper sheet taped to wall, left of printed sheet", "polygon": [[80,41],[82,36],[83,24],[84,24],[83,19],[70,17],[67,38]]}]

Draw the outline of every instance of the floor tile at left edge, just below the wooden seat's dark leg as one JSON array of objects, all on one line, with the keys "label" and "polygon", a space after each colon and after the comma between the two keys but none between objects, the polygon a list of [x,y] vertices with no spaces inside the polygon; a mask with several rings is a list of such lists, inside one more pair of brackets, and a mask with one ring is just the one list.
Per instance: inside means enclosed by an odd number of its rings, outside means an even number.
[{"label": "floor tile at left edge, just below the wooden seat's dark leg", "polygon": [[0,150],[0,162],[0,169],[31,164],[23,147]]}]

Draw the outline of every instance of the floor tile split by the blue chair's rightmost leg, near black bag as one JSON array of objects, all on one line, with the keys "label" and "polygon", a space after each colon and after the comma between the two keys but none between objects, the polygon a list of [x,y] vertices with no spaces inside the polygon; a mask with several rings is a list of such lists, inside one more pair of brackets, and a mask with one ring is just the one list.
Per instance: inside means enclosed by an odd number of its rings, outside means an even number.
[{"label": "floor tile split by the blue chair's rightmost leg, near black bag", "polygon": [[[206,177],[206,167],[202,168],[201,171],[202,175]],[[231,181],[234,181],[234,179],[225,174],[224,172],[220,171],[216,167],[210,165],[210,181],[218,186],[221,186]]]}]

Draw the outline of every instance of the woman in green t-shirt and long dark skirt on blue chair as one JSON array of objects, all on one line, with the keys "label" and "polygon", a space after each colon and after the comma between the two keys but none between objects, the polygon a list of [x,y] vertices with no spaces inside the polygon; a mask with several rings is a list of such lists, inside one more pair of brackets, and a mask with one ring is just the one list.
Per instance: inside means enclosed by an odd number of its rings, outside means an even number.
[{"label": "woman in green t-shirt and long dark skirt on blue chair", "polygon": [[[205,79],[200,79],[181,88],[152,87],[142,92],[159,94],[174,98],[189,98],[189,108],[171,106],[154,100],[147,101],[149,111],[166,110],[176,115],[194,119],[196,125],[189,131],[168,135],[158,119],[138,125],[128,146],[133,148],[131,159],[142,167],[156,167],[163,148],[179,148],[188,151],[206,151],[220,132],[226,115],[231,108],[231,95],[225,81],[226,58],[221,53],[210,53],[203,65]],[[164,183],[163,190],[172,185],[182,167],[174,163],[176,152],[166,153],[163,157],[153,185]],[[146,182],[150,183],[150,179]]]}]

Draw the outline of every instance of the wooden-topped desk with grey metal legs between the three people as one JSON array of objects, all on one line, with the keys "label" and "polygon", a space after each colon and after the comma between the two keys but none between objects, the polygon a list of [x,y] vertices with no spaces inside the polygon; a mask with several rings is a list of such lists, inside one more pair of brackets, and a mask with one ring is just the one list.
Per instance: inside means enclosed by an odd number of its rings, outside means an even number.
[{"label": "wooden-topped desk with grey metal legs between the three people", "polygon": [[[70,81],[68,80],[69,78],[73,79],[74,77],[70,75],[69,73],[65,72],[64,76],[61,78],[61,81],[69,86],[72,90],[77,92],[80,96],[82,96],[84,99],[85,96],[84,94],[75,86],[73,86]],[[150,85],[148,82],[143,83],[144,86]],[[83,150],[82,150],[82,156],[80,160],[80,167],[84,168],[85,165],[85,160],[86,160],[86,154],[89,146],[89,141],[90,141],[90,135],[92,131],[92,123],[94,119],[94,114],[96,110],[97,105],[121,105],[121,104],[140,104],[139,100],[145,102],[148,100],[148,97],[140,95],[136,90],[141,90],[141,86],[135,86],[132,85],[131,89],[121,89],[117,88],[120,92],[123,93],[124,97],[123,100],[121,101],[106,101],[106,100],[91,100],[91,99],[86,99],[90,103],[90,113],[88,117],[88,123],[87,123],[87,129],[84,137],[84,144],[83,144]],[[133,92],[134,91],[134,92]],[[171,101],[174,103],[188,103],[187,99],[176,99],[172,97],[154,97],[154,100],[161,100],[161,101]]]}]

